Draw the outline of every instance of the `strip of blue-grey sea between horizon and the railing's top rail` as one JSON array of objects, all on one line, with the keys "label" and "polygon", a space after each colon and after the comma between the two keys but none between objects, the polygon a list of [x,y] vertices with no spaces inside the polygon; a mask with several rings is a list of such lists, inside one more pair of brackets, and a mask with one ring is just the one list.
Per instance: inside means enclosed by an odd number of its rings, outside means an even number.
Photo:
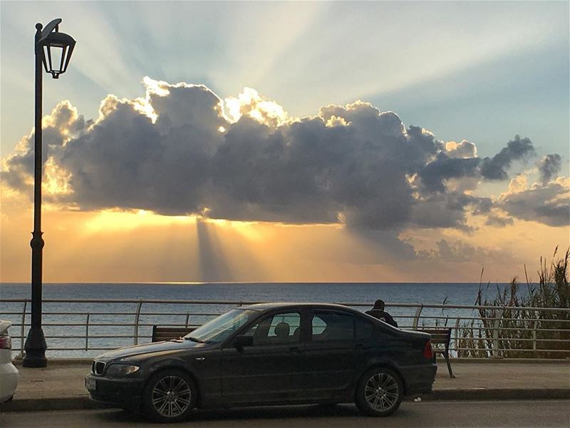
[{"label": "strip of blue-grey sea between horizon and the railing's top rail", "polygon": [[[473,305],[480,287],[494,295],[507,283],[480,282],[44,282],[51,299],[162,299],[386,302]],[[1,299],[26,299],[30,282],[0,282]]]}]

